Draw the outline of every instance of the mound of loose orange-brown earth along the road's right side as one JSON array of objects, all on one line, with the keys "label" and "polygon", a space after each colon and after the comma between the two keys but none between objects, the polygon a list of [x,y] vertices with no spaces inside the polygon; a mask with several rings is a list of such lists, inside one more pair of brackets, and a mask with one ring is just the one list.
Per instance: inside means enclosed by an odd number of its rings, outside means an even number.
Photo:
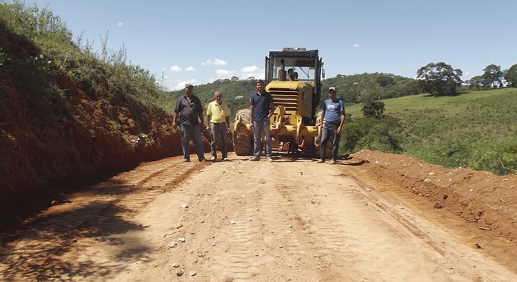
[{"label": "mound of loose orange-brown earth along the road's right side", "polygon": [[487,238],[517,239],[517,175],[497,176],[486,171],[447,169],[407,155],[359,151],[369,177],[393,184],[399,195],[420,198],[420,205],[445,209]]}]

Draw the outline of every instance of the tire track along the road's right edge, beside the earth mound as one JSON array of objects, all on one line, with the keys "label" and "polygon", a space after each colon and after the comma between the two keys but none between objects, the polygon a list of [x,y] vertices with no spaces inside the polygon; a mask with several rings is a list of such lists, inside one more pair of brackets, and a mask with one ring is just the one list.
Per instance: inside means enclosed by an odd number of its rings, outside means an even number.
[{"label": "tire track along the road's right edge, beside the earth mound", "polygon": [[[407,195],[402,197],[407,191],[401,191],[401,187],[392,186],[389,181],[372,181],[373,175],[370,171],[354,167],[349,170],[349,174],[343,176],[353,177],[360,183],[363,191],[370,191],[367,195],[371,201],[403,226],[400,231],[411,232],[420,241],[415,244],[415,250],[436,265],[436,273],[441,273],[440,276],[447,274],[443,276],[446,281],[514,280],[515,274],[466,246],[458,234],[449,234],[444,223],[448,226],[454,220],[450,219],[449,214],[443,213],[443,210],[433,210],[428,202],[419,199],[415,201]],[[427,220],[423,220],[423,216]],[[498,279],[493,280],[494,277]]]}]

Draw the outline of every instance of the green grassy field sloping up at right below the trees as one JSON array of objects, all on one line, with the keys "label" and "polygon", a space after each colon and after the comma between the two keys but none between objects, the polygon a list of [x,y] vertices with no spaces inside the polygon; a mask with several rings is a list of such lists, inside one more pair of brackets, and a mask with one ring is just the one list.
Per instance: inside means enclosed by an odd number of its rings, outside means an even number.
[{"label": "green grassy field sloping up at right below the trees", "polygon": [[[517,169],[517,89],[470,91],[460,96],[428,94],[382,100],[398,119],[395,137],[403,153],[449,167],[497,174]],[[361,106],[346,107],[361,118]],[[505,169],[505,167],[507,169]],[[508,169],[509,168],[509,169]]]}]

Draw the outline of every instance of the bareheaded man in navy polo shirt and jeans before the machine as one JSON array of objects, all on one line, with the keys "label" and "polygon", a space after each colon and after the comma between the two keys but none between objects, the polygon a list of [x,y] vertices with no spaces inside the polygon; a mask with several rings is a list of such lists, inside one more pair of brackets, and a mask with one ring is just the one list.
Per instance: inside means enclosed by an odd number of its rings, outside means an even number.
[{"label": "bareheaded man in navy polo shirt and jeans before the machine", "polygon": [[273,97],[265,91],[264,85],[264,80],[259,79],[256,82],[256,93],[250,98],[250,127],[253,129],[255,141],[251,160],[261,159],[261,137],[264,133],[265,159],[267,162],[272,162],[270,118],[274,112],[274,103]]}]

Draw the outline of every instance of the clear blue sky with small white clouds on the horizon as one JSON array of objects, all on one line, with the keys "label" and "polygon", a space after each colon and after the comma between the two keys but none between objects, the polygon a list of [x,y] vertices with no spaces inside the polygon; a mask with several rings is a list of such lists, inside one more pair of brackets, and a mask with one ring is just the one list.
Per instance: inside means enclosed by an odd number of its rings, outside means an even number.
[{"label": "clear blue sky with small white clouds on the horizon", "polygon": [[517,63],[515,0],[37,0],[101,50],[125,47],[127,63],[170,90],[217,79],[264,78],[265,56],[319,50],[326,78],[383,72],[412,77],[445,62],[463,80]]}]

